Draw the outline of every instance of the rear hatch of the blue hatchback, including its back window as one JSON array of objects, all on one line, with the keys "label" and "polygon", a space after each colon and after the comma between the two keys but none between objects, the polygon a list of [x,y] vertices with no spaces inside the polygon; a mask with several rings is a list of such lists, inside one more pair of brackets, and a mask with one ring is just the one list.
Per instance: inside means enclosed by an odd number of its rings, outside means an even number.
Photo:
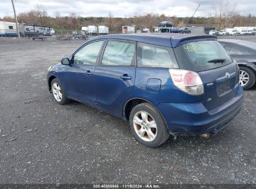
[{"label": "rear hatch of the blue hatchback, including its back window", "polygon": [[179,67],[194,71],[204,85],[202,103],[210,110],[237,93],[239,69],[217,40],[189,42],[174,48]]}]

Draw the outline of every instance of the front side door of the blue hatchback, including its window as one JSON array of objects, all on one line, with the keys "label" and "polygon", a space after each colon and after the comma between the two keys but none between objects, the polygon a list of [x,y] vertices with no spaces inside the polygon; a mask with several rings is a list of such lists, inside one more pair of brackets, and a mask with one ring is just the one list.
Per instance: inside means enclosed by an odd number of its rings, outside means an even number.
[{"label": "front side door of the blue hatchback, including its window", "polygon": [[80,48],[71,60],[70,65],[59,72],[66,95],[83,103],[95,105],[93,93],[93,72],[98,61],[103,40],[90,42]]}]

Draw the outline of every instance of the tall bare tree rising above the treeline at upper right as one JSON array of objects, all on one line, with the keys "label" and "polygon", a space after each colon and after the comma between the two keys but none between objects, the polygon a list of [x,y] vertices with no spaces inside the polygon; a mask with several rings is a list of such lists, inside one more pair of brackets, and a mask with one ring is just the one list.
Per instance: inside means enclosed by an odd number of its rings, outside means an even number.
[{"label": "tall bare tree rising above the treeline at upper right", "polygon": [[237,8],[236,1],[219,0],[213,5],[216,23],[219,29],[223,29],[229,24],[230,19],[234,17]]}]

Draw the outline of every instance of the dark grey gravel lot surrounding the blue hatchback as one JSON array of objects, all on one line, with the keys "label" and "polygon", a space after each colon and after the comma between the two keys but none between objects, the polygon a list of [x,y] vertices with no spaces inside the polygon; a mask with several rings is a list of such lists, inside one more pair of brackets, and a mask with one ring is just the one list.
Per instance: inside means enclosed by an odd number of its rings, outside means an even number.
[{"label": "dark grey gravel lot surrounding the blue hatchback", "polygon": [[126,121],[54,102],[47,68],[82,43],[0,38],[0,183],[256,183],[255,86],[216,136],[170,137],[152,149]]}]

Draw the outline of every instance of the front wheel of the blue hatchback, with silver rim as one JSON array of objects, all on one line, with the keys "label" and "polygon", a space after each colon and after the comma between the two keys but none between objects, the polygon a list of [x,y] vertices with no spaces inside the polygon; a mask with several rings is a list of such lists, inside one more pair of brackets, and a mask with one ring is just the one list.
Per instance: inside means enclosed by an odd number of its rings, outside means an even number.
[{"label": "front wheel of the blue hatchback, with silver rim", "polygon": [[70,99],[65,96],[65,91],[57,78],[50,83],[50,89],[52,91],[52,96],[54,96],[54,99],[58,104],[64,105],[69,103]]}]

